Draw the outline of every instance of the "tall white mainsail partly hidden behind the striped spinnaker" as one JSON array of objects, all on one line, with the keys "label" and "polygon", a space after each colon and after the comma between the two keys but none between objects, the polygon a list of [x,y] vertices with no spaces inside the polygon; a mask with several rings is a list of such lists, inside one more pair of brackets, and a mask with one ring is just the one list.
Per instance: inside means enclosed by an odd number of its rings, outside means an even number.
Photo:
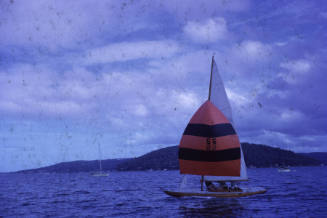
[{"label": "tall white mainsail partly hidden behind the striped spinnaker", "polygon": [[[210,76],[210,90],[209,90],[209,100],[225,115],[225,117],[231,122],[234,129],[232,108],[230,106],[229,100],[227,98],[224,83],[219,75],[218,68],[214,57],[212,57],[211,63],[211,76]],[[205,176],[207,181],[241,181],[247,180],[247,171],[244,161],[242,146],[241,148],[241,172],[240,177],[236,176]]]}]

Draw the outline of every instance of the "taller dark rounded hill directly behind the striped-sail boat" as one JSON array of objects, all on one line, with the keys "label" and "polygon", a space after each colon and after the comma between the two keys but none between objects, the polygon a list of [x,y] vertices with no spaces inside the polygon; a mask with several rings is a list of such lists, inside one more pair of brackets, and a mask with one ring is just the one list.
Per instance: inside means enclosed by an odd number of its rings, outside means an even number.
[{"label": "taller dark rounded hill directly behind the striped-sail boat", "polygon": [[[321,161],[305,154],[267,145],[242,143],[248,167],[315,166]],[[326,153],[327,154],[327,153]],[[162,148],[117,165],[118,170],[178,169],[178,146]]]}]

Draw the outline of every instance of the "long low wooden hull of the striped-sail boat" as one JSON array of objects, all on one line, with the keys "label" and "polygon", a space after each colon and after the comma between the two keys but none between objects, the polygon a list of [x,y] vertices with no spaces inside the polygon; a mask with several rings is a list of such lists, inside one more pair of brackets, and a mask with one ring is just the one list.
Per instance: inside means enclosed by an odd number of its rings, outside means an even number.
[{"label": "long low wooden hull of the striped-sail boat", "polygon": [[244,188],[242,192],[208,192],[208,191],[164,191],[167,195],[173,197],[215,197],[215,198],[238,198],[256,194],[263,194],[267,190],[261,187]]}]

